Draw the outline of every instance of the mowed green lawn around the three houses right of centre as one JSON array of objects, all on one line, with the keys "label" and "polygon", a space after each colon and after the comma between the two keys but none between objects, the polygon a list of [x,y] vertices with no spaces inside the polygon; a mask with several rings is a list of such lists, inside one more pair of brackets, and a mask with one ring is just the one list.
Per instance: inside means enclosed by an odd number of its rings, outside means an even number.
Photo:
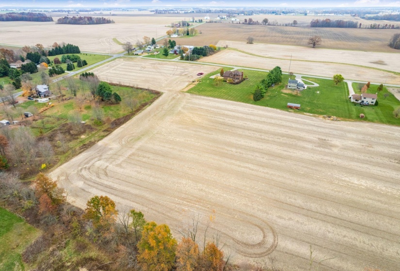
[{"label": "mowed green lawn around the three houses right of centre", "polygon": [[[359,115],[363,113],[366,116],[364,120],[400,125],[400,119],[393,117],[393,110],[400,106],[400,102],[386,89],[378,94],[377,106],[361,106],[352,104],[348,99],[346,83],[340,83],[335,86],[332,80],[304,77],[306,80],[320,84],[320,87],[308,88],[296,94],[293,91],[284,90],[288,75],[283,75],[283,83],[270,88],[262,100],[255,102],[253,101],[252,92],[255,85],[265,77],[266,73],[243,71],[244,75],[248,75],[249,80],[245,80],[239,85],[231,85],[224,82],[220,86],[215,86],[213,79],[208,77],[218,72],[216,71],[205,76],[199,84],[187,92],[286,111],[330,115],[350,120],[360,120]],[[371,86],[368,92],[375,93],[376,88],[377,86]],[[385,93],[389,93],[389,97],[386,99],[384,99]],[[287,103],[301,104],[302,108],[300,111],[288,109]]]}]

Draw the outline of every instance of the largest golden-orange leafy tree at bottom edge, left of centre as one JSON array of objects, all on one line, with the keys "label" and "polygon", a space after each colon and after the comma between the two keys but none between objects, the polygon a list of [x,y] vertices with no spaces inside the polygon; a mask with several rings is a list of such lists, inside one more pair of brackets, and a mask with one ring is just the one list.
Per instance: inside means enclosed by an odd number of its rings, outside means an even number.
[{"label": "largest golden-orange leafy tree at bottom edge, left of centre", "polygon": [[146,271],[169,271],[174,266],[176,240],[167,225],[150,222],[144,225],[138,243],[138,262]]}]

